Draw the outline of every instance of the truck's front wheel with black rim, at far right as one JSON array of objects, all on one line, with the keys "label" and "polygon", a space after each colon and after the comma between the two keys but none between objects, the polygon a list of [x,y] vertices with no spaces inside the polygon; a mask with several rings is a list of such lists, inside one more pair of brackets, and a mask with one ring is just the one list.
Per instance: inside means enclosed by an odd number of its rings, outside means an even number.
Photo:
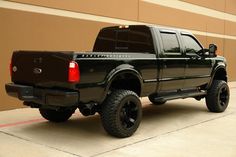
[{"label": "truck's front wheel with black rim, at far right", "polygon": [[206,105],[211,112],[224,112],[229,103],[229,87],[223,80],[214,80],[207,91]]}]

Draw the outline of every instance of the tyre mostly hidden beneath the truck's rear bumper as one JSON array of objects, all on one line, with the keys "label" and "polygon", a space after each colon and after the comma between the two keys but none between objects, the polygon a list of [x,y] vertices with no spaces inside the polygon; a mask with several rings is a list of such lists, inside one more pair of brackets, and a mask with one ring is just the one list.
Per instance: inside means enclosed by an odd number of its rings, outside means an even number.
[{"label": "tyre mostly hidden beneath the truck's rear bumper", "polygon": [[65,110],[52,110],[52,109],[39,109],[40,114],[43,118],[51,122],[64,122],[67,121],[71,115],[75,112],[75,109],[65,109]]}]

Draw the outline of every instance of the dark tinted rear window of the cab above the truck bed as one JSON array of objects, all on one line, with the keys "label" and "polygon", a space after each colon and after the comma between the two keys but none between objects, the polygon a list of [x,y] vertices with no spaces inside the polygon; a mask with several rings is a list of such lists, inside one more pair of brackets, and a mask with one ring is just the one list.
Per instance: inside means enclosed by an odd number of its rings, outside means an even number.
[{"label": "dark tinted rear window of the cab above the truck bed", "polygon": [[154,53],[152,34],[145,26],[105,28],[99,32],[93,51]]}]

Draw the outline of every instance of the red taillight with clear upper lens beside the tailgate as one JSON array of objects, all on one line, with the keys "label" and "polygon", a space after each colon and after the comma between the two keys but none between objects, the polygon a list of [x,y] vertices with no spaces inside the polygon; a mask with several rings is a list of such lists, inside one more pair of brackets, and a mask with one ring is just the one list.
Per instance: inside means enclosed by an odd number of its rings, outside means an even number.
[{"label": "red taillight with clear upper lens beside the tailgate", "polygon": [[75,61],[69,63],[68,81],[72,83],[80,81],[79,65]]}]

